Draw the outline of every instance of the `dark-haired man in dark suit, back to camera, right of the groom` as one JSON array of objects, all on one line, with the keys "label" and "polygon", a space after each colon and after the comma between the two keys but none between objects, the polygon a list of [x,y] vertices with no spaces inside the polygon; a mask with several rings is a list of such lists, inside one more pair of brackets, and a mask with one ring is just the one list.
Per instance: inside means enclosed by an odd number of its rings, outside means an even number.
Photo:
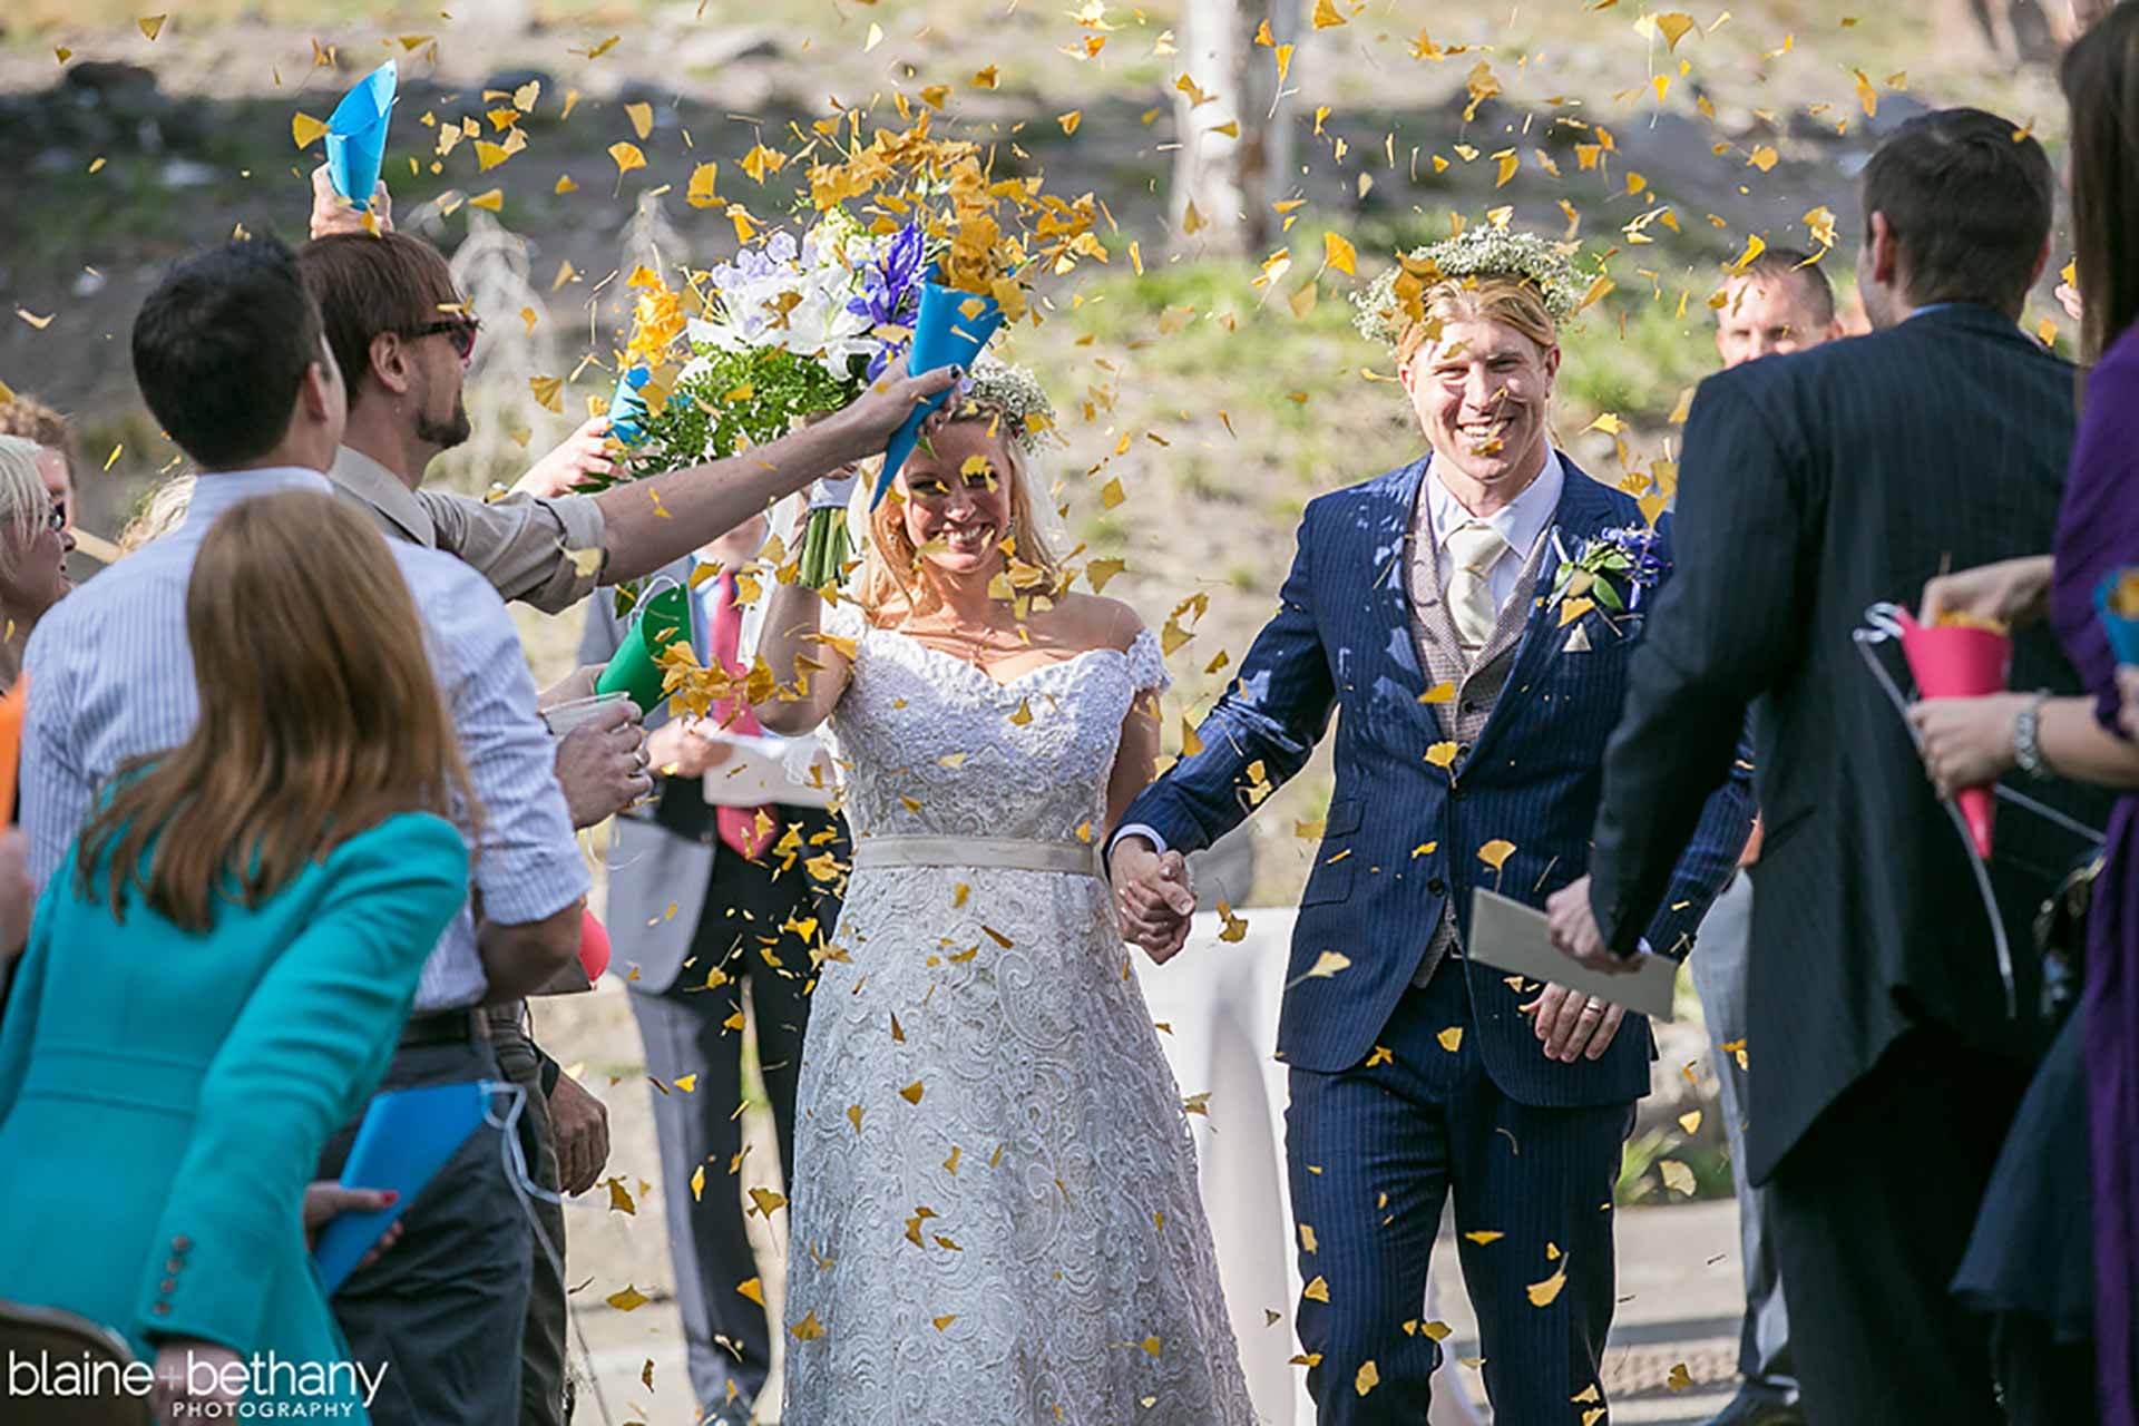
[{"label": "dark-haired man in dark suit, back to camera, right of the groom", "polygon": [[[1754,1182],[1773,1193],[1812,1422],[2004,1420],[1987,1332],[1946,1293],[2036,1050],[2028,921],[2079,851],[2009,810],[1991,881],[2017,1011],[1968,849],[1863,667],[1867,605],[2047,549],[2073,368],[2017,329],[2056,180],[2015,124],[1946,109],[1865,167],[1859,289],[1876,331],[1703,383],[1686,428],[1679,573],[1634,658],[1591,885],[1555,936],[1611,966],[1675,896],[1748,706],[1765,815],[1748,992]],[[2015,688],[2077,691],[2047,633]],[[2083,821],[2100,804],[2036,789]]]}]

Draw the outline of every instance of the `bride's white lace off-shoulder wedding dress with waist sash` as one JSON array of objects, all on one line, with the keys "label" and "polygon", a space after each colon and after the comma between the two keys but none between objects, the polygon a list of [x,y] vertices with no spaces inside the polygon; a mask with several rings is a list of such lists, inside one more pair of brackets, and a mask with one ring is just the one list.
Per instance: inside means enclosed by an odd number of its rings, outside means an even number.
[{"label": "bride's white lace off-shoulder wedding dress with waist sash", "polygon": [[[1149,631],[1007,684],[851,607],[858,847],[802,1052],[787,1426],[1251,1426],[1183,1103],[1104,881]],[[892,840],[886,840],[892,838]],[[941,838],[915,862],[915,842]]]}]

